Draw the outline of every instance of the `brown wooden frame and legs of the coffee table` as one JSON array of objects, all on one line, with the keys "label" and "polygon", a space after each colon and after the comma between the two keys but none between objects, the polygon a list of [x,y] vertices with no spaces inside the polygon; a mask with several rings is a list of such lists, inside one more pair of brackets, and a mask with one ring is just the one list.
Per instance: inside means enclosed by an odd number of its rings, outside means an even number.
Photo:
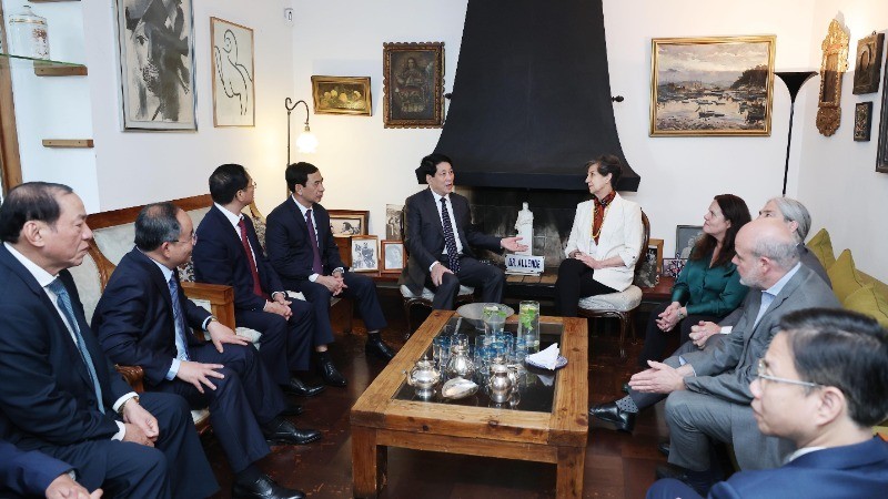
[{"label": "brown wooden frame and legs of the coffee table", "polygon": [[558,344],[568,360],[556,371],[548,413],[400,399],[404,373],[453,314],[433,312],[352,407],[354,496],[377,496],[385,485],[387,447],[402,447],[552,462],[557,465],[557,497],[582,497],[588,434],[586,320],[541,317],[541,323],[564,325]]}]

